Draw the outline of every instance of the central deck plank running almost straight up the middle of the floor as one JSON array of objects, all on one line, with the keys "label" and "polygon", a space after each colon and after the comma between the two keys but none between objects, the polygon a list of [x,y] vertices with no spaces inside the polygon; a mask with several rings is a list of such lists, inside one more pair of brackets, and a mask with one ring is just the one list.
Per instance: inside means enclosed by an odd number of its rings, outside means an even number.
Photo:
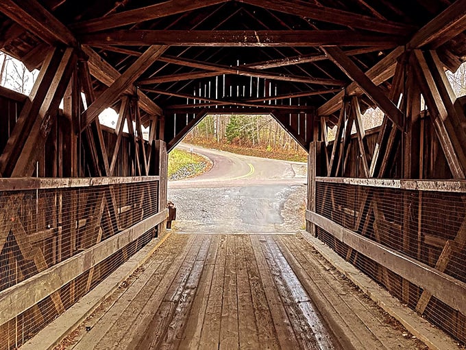
[{"label": "central deck plank running almost straight up the middle of the floor", "polygon": [[239,348],[238,295],[236,288],[236,257],[234,235],[227,235],[227,256],[221,305],[220,350]]}]

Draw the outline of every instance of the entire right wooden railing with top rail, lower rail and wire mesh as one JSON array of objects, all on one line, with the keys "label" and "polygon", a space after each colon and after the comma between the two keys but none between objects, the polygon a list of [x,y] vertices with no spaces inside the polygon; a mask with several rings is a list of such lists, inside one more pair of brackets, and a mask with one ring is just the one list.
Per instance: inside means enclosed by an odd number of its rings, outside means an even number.
[{"label": "entire right wooden railing with top rail, lower rail and wire mesh", "polygon": [[465,180],[316,177],[306,220],[339,255],[465,342]]}]

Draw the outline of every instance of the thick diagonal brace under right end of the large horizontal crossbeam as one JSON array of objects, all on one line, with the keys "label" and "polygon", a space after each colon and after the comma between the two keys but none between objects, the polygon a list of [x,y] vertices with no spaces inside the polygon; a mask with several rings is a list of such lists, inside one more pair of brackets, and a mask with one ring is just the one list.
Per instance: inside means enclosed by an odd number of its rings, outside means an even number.
[{"label": "thick diagonal brace under right end of the large horizontal crossbeam", "polygon": [[339,47],[327,47],[324,50],[330,59],[339,66],[349,78],[352,78],[352,80],[363,89],[366,95],[384,111],[387,117],[393,121],[393,124],[402,130],[403,113],[393,104],[389,97],[385,95],[384,91],[376,86],[376,84],[374,84],[372,80],[356,66],[351,58],[346,56],[345,53],[339,49]]}]

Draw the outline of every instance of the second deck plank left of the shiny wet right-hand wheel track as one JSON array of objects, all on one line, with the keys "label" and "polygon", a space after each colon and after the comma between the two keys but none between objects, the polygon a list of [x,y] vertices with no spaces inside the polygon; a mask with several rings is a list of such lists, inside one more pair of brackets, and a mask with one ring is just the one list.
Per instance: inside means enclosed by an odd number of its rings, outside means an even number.
[{"label": "second deck plank left of the shiny wet right-hand wheel track", "polygon": [[241,238],[247,265],[247,276],[251,287],[252,304],[256,316],[258,340],[263,349],[280,349],[280,343],[278,342],[277,332],[273,325],[264,285],[262,284],[262,279],[260,279],[251,239],[248,235],[243,235]]}]

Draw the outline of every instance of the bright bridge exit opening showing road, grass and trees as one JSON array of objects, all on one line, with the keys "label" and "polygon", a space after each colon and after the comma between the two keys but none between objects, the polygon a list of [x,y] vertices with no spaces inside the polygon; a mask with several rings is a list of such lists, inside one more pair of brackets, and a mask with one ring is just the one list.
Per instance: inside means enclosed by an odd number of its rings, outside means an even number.
[{"label": "bright bridge exit opening showing road, grass and trees", "polygon": [[171,150],[168,169],[177,232],[305,228],[307,152],[272,115],[206,115]]}]

